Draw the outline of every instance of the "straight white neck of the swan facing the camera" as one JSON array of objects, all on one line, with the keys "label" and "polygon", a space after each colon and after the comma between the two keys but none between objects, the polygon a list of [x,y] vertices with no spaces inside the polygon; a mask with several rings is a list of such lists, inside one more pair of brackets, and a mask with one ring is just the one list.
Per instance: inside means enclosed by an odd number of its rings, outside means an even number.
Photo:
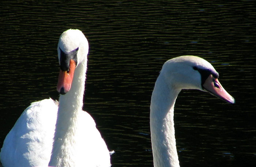
[{"label": "straight white neck of the swan facing the camera", "polygon": [[76,67],[71,90],[60,95],[52,156],[49,166],[75,166],[76,129],[83,106],[86,60]]}]

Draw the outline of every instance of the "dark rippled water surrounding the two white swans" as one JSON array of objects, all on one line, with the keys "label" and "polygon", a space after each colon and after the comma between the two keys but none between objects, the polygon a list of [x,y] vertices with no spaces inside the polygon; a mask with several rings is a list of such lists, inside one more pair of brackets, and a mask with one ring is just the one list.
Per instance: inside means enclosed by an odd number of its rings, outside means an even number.
[{"label": "dark rippled water surrounding the two white swans", "polygon": [[0,11],[0,145],[30,102],[58,99],[57,42],[78,28],[90,43],[84,110],[116,151],[113,167],[153,166],[151,92],[179,55],[211,62],[236,98],[180,93],[180,165],[256,166],[254,1],[2,1]]}]

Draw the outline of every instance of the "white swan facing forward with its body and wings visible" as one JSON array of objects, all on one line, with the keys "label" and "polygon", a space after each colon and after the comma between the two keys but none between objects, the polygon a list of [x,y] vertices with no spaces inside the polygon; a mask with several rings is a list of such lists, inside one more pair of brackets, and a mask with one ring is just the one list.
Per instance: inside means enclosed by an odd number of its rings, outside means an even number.
[{"label": "white swan facing forward with its body and wings visible", "polygon": [[93,118],[82,111],[87,39],[80,30],[67,30],[60,36],[57,50],[59,105],[45,99],[33,102],[21,114],[1,148],[4,167],[110,166],[105,141]]}]

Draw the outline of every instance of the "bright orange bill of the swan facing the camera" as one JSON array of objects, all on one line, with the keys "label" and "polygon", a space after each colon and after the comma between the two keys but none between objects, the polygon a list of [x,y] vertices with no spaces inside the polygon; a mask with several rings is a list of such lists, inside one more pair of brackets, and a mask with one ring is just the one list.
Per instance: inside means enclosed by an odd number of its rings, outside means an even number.
[{"label": "bright orange bill of the swan facing the camera", "polygon": [[76,68],[76,63],[74,60],[71,59],[69,62],[69,71],[62,71],[60,69],[59,79],[57,84],[57,91],[60,94],[65,94],[71,89],[75,68]]}]

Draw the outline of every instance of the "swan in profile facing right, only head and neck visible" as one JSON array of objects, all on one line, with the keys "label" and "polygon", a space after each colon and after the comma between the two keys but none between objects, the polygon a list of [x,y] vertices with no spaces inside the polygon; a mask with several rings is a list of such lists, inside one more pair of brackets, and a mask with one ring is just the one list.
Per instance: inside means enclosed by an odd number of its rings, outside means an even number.
[{"label": "swan in profile facing right, only head and neck visible", "polygon": [[222,100],[235,100],[218,81],[219,74],[206,60],[181,56],[165,62],[155,82],[150,105],[154,167],[179,167],[174,135],[174,104],[182,89],[199,89]]}]

